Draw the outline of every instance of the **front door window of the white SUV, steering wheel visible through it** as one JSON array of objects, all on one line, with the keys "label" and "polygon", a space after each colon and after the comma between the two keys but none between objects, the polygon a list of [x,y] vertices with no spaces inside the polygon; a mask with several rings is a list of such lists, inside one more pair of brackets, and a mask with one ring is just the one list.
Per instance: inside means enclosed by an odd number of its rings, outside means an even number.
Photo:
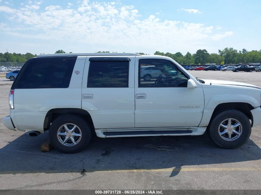
[{"label": "front door window of the white SUV, steering wheel visible through it", "polygon": [[[151,71],[141,67],[151,67]],[[188,77],[169,60],[139,60],[139,87],[187,87],[187,81]]]}]

